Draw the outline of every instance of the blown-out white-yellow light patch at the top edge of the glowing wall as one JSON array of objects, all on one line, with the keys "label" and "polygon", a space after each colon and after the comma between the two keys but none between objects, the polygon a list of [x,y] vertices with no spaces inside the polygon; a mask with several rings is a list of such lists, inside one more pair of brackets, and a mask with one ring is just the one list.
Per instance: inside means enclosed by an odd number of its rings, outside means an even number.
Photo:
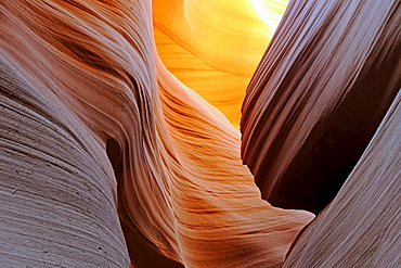
[{"label": "blown-out white-yellow light patch at the top edge of the glowing wall", "polygon": [[259,18],[269,27],[273,35],[287,8],[288,0],[249,0]]}]

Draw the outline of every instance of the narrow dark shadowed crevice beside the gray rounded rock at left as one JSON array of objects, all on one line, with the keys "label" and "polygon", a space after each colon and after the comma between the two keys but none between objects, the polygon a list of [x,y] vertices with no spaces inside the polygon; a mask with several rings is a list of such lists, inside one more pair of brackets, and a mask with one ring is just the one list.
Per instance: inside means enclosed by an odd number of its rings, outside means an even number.
[{"label": "narrow dark shadowed crevice beside the gray rounded rock at left", "polygon": [[124,235],[131,259],[131,267],[135,268],[183,268],[184,266],[164,256],[131,222],[128,217],[129,209],[125,205],[122,194],[124,187],[124,156],[120,145],[109,139],[106,143],[106,152],[112,163],[117,180],[117,210],[122,228]]}]

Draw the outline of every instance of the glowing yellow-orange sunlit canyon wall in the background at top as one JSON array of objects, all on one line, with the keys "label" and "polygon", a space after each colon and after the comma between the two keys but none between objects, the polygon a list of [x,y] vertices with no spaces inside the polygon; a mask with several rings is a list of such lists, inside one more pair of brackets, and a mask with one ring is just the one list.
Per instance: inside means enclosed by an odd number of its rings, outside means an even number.
[{"label": "glowing yellow-orange sunlit canyon wall in the background at top", "polygon": [[154,0],[161,61],[238,127],[245,89],[286,2]]}]

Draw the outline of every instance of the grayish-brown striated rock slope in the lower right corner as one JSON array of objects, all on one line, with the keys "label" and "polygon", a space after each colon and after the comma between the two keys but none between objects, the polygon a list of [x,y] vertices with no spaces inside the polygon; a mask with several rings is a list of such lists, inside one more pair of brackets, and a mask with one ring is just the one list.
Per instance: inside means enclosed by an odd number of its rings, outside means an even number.
[{"label": "grayish-brown striated rock slope in the lower right corner", "polygon": [[401,92],[335,200],[284,267],[400,267]]}]

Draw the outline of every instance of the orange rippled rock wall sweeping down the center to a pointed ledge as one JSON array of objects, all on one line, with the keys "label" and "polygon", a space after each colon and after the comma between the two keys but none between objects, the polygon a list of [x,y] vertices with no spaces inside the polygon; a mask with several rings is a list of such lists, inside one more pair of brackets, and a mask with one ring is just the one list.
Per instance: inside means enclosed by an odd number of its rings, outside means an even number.
[{"label": "orange rippled rock wall sweeping down the center to a pointed ledge", "polygon": [[166,122],[182,168],[173,180],[173,201],[185,264],[281,266],[280,252],[286,252],[312,215],[261,202],[251,175],[241,164],[237,131],[160,63],[157,71]]}]

